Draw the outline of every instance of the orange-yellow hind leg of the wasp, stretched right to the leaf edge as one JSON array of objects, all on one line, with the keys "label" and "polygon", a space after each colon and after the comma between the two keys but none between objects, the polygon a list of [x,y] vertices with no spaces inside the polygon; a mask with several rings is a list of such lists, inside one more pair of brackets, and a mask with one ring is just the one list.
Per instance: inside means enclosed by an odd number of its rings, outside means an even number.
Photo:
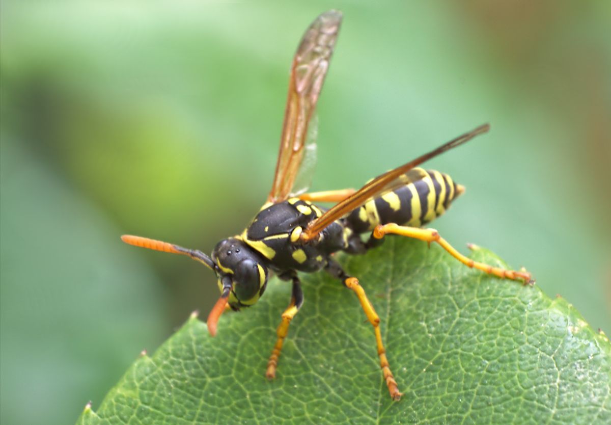
[{"label": "orange-yellow hind leg of the wasp, stretched right to the leaf edge", "polygon": [[489,264],[480,263],[470,258],[467,258],[463,254],[456,251],[456,248],[454,248],[444,238],[442,238],[439,235],[439,232],[437,232],[435,229],[420,229],[418,227],[398,226],[394,223],[384,225],[380,224],[376,226],[375,229],[373,229],[373,237],[377,239],[381,239],[386,234],[406,236],[410,238],[420,239],[428,243],[437,242],[439,243],[439,245],[442,246],[442,248],[448,251],[450,255],[452,255],[455,259],[457,259],[464,265],[467,265],[468,267],[477,268],[478,270],[486,272],[489,275],[499,276],[499,278],[503,279],[507,278],[516,281],[521,280],[524,282],[524,284],[533,284],[535,282],[533,281],[532,276],[529,272],[516,272],[516,270],[507,270],[505,268],[492,267]]}]

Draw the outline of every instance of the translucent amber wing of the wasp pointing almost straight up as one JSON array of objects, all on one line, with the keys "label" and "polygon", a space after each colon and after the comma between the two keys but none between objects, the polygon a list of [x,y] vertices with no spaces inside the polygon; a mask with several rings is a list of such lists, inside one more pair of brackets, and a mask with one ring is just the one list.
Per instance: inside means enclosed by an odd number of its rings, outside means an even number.
[{"label": "translucent amber wing of the wasp pointing almost straight up", "polygon": [[[268,202],[281,202],[290,196],[299,169],[304,164],[304,156],[307,156],[304,155],[306,147],[314,146],[309,149],[315,152],[314,138],[308,137],[308,128],[323,87],[324,76],[329,69],[329,60],[341,23],[341,12],[324,12],[313,21],[299,43],[291,67],[280,152]],[[309,144],[308,139],[312,143]],[[305,163],[313,168],[311,159]],[[304,177],[302,184],[305,186],[309,182],[305,181],[307,176]],[[304,187],[298,189],[305,190]]]}]

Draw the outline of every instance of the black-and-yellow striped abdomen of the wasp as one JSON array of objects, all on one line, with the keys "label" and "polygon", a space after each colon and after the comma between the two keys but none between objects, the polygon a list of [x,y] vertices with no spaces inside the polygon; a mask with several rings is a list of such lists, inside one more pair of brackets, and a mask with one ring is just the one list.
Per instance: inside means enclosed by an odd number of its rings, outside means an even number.
[{"label": "black-and-yellow striped abdomen of the wasp", "polygon": [[351,212],[346,220],[354,232],[372,231],[378,224],[420,227],[442,215],[464,187],[439,171],[414,168],[406,184]]}]

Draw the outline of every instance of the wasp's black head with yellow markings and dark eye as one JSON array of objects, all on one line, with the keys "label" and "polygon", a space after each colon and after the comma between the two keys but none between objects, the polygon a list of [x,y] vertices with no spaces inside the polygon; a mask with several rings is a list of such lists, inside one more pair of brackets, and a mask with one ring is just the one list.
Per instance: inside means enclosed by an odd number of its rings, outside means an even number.
[{"label": "wasp's black head with yellow markings and dark eye", "polygon": [[212,259],[220,270],[219,282],[222,276],[232,279],[229,305],[233,309],[251,306],[263,295],[268,270],[260,255],[246,243],[238,238],[224,239],[214,247]]}]

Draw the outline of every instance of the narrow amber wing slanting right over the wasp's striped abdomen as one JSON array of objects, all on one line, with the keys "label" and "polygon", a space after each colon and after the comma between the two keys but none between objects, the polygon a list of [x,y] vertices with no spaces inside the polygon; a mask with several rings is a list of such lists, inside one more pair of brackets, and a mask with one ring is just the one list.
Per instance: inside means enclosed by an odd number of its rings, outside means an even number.
[{"label": "narrow amber wing slanting right over the wasp's striped abdomen", "polygon": [[395,169],[392,169],[388,172],[385,172],[381,176],[376,177],[370,182],[366,183],[364,187],[357,190],[352,196],[344,199],[342,202],[339,202],[331,209],[327,210],[323,215],[317,218],[314,221],[311,221],[305,231],[301,234],[301,240],[306,242],[316,237],[323,229],[329,224],[333,223],[338,218],[342,218],[346,214],[356,210],[357,208],[364,205],[367,201],[372,198],[376,198],[377,196],[393,190],[401,185],[408,183],[408,177],[404,176],[406,172],[411,170],[412,168],[422,164],[423,162],[430,160],[437,155],[445,152],[446,150],[452,149],[453,147],[460,146],[461,144],[469,141],[477,135],[482,133],[486,133],[490,126],[488,124],[480,125],[480,127],[475,128],[468,133],[464,133],[464,135],[458,136],[455,139],[450,140],[449,142],[439,146],[437,149],[431,150],[431,152],[425,153],[419,158],[416,158],[413,161],[410,161],[406,164],[401,165]]}]

